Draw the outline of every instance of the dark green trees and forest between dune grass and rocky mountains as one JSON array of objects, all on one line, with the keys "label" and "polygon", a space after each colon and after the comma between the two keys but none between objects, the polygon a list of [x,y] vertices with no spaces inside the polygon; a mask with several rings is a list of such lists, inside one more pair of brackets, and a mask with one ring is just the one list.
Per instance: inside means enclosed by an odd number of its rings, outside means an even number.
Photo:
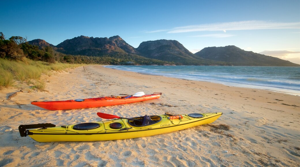
[{"label": "dark green trees and forest between dune grass and rocky mountains", "polygon": [[[39,44],[38,45],[31,45]],[[103,65],[165,65],[173,64],[161,60],[149,59],[136,54],[114,53],[102,54],[101,56],[86,56],[64,54],[57,51],[57,47],[44,40],[27,42],[26,38],[13,36],[8,40],[0,33],[0,58],[8,60],[22,60],[23,57],[31,60],[44,61],[47,63],[77,63],[77,64],[103,64]],[[130,62],[130,63],[128,63]],[[133,62],[133,63],[131,63]]]}]

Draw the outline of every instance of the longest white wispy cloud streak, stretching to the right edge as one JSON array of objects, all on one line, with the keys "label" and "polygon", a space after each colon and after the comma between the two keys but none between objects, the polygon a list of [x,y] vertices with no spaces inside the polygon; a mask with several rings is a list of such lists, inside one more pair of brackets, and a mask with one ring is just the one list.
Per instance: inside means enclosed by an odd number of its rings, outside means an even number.
[{"label": "longest white wispy cloud streak, stretching to the right edge", "polygon": [[261,30],[261,29],[300,29],[300,22],[267,22],[267,21],[240,21],[240,22],[223,22],[201,25],[188,25],[172,29],[146,31],[146,33],[164,32],[167,33],[184,33],[195,31],[228,31],[228,30]]}]

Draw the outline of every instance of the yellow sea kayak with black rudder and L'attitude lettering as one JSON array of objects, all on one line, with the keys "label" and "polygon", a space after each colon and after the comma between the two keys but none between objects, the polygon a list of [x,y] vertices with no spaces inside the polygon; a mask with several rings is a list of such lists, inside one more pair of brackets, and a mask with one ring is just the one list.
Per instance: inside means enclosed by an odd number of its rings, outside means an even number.
[{"label": "yellow sea kayak with black rudder and L'attitude lettering", "polygon": [[[97,114],[101,116],[104,113]],[[30,136],[38,142],[131,139],[210,124],[222,114],[191,113],[173,116],[166,113],[164,115],[146,115],[130,119],[118,117],[119,119],[63,126],[55,126],[49,123],[20,125],[19,132],[22,137]]]}]

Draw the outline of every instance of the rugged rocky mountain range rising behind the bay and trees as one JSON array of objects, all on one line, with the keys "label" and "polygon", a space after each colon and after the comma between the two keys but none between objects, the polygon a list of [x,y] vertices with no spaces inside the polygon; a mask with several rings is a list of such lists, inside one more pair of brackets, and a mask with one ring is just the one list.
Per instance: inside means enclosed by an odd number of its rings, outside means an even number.
[{"label": "rugged rocky mountain range rising behind the bay and trees", "polygon": [[[126,60],[144,57],[149,60],[162,60],[165,64],[176,65],[219,65],[219,66],[300,66],[276,57],[244,51],[236,46],[207,47],[193,54],[176,40],[155,40],[142,42],[134,48],[121,37],[86,37],[78,36],[64,40],[54,46],[37,39],[28,41],[40,48],[50,46],[54,50],[71,55],[112,56],[122,55]],[[168,63],[170,62],[170,63]]]}]

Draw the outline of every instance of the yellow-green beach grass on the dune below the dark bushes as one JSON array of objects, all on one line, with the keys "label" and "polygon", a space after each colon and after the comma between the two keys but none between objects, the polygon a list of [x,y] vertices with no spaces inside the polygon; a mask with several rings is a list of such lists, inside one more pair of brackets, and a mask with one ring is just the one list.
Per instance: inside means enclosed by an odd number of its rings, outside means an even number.
[{"label": "yellow-green beach grass on the dune below the dark bushes", "polygon": [[52,64],[27,58],[19,61],[0,59],[0,89],[13,86],[16,81],[34,84],[34,88],[44,89],[45,83],[39,81],[42,74],[49,76],[52,74],[52,70],[56,72],[67,71],[68,68],[79,66],[83,66],[83,64]]}]

